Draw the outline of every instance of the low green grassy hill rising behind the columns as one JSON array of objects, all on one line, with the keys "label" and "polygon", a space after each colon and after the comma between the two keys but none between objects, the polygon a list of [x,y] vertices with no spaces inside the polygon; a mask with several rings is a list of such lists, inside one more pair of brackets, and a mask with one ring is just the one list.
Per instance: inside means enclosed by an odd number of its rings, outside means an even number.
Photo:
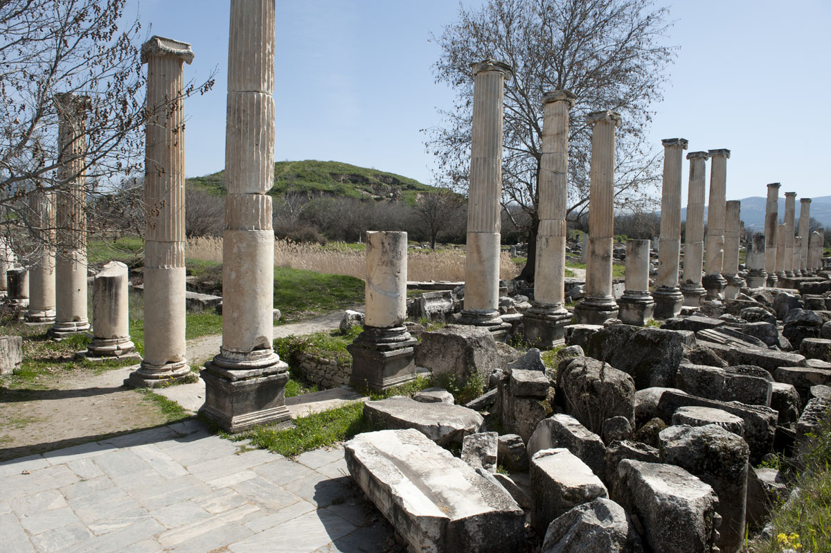
[{"label": "low green grassy hill rising behind the columns", "polygon": [[[214,194],[225,194],[224,171],[188,179],[189,185],[199,186]],[[310,198],[322,195],[347,196],[371,200],[400,198],[416,200],[421,193],[430,193],[433,186],[418,180],[376,169],[358,167],[338,161],[278,161],[274,164],[274,186],[268,192],[273,196],[293,191]]]}]

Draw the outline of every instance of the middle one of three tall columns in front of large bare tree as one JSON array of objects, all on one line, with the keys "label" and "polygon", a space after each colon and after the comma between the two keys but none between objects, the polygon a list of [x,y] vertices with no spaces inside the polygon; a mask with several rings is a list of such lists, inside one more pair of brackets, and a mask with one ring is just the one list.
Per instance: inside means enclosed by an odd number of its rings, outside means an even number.
[{"label": "middle one of three tall columns in front of large bare tree", "polygon": [[[561,343],[571,314],[564,307],[566,268],[566,191],[568,180],[569,91],[543,95],[543,159],[539,174],[534,304],[523,315],[525,339],[538,348]],[[585,235],[584,235],[585,236]]]}]

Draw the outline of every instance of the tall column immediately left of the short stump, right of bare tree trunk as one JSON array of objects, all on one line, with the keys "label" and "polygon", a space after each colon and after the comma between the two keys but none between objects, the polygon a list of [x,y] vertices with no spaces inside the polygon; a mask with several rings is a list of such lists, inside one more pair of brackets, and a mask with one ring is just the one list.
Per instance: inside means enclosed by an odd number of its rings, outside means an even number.
[{"label": "tall column immediately left of the short stump, right of bare tree trunk", "polygon": [[617,318],[617,303],[612,295],[612,241],[615,128],[621,124],[621,116],[614,111],[594,111],[586,119],[593,126],[586,298],[574,308],[574,314],[578,324],[602,324]]}]

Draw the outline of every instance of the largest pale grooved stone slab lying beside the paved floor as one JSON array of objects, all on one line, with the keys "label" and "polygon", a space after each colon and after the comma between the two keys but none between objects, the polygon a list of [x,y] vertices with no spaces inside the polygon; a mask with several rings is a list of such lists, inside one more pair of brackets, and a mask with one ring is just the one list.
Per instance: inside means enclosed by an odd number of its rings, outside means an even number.
[{"label": "largest pale grooved stone slab lying beside the paved floor", "polygon": [[416,430],[358,434],[344,446],[361,490],[415,551],[519,551],[516,501]]}]

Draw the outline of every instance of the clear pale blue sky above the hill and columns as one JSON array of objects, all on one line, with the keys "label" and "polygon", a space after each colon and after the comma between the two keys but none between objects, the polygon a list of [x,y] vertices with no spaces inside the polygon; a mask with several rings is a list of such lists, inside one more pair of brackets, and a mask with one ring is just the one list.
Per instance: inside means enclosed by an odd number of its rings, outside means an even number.
[{"label": "clear pale blue sky above the hill and columns", "polygon": [[[482,2],[470,0],[467,6]],[[658,2],[658,5],[665,5]],[[700,0],[666,3],[680,46],[649,133],[681,136],[690,150],[728,148],[727,198],[765,195],[780,181],[799,197],[831,195],[827,36],[831,2]],[[420,132],[438,124],[452,91],[431,70],[430,32],[455,21],[451,0],[277,2],[276,160],[337,160],[430,184]],[[145,32],[190,42],[186,77],[216,86],[186,102],[187,175],[224,166],[227,0],[133,0]],[[686,205],[686,161],[684,203]]]}]

